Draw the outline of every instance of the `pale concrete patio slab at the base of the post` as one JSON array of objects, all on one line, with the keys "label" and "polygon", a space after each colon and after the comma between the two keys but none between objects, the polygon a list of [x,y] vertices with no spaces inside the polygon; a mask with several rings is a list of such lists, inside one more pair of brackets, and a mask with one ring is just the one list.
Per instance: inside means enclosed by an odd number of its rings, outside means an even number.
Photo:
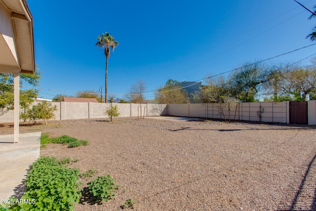
[{"label": "pale concrete patio slab at the base of the post", "polygon": [[0,135],[0,200],[22,196],[28,170],[40,157],[41,132],[21,133],[18,143],[13,134]]}]

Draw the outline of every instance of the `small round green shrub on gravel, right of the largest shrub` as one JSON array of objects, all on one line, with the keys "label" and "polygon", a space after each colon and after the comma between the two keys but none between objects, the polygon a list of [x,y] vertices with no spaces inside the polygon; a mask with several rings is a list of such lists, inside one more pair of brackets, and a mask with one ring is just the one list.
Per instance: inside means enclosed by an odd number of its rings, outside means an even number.
[{"label": "small round green shrub on gravel, right of the largest shrub", "polygon": [[115,179],[110,175],[98,176],[98,178],[88,182],[90,195],[95,201],[109,201],[115,195],[114,190],[118,187]]}]

